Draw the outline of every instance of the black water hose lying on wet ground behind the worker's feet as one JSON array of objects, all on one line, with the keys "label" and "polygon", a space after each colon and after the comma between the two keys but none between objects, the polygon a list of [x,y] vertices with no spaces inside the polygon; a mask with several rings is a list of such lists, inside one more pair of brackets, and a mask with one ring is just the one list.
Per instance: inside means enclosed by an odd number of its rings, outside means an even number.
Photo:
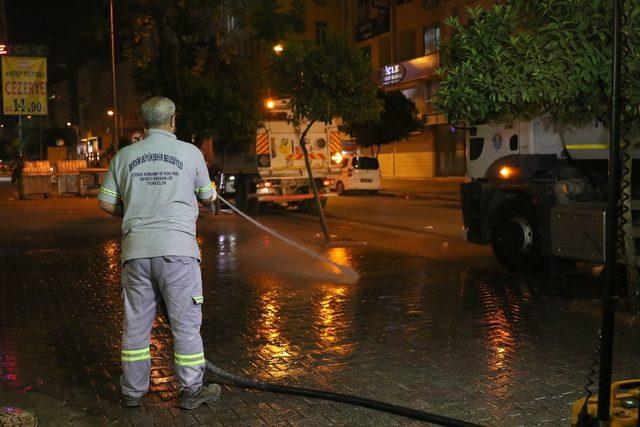
[{"label": "black water hose lying on wet ground behind the worker's feet", "polygon": [[445,417],[442,415],[432,414],[430,412],[420,411],[418,409],[407,408],[405,406],[393,405],[391,403],[380,402],[377,400],[367,399],[359,396],[352,396],[342,393],[334,393],[331,391],[314,390],[311,388],[292,387],[288,385],[268,383],[265,381],[254,380],[251,378],[233,375],[205,360],[206,367],[223,380],[242,387],[251,388],[261,391],[269,391],[280,394],[291,394],[295,396],[311,397],[314,399],[331,400],[334,402],[348,403],[350,405],[362,406],[363,408],[376,409],[378,411],[388,412],[394,415],[400,415],[415,420],[427,421],[441,426],[451,427],[479,427],[479,424],[469,423],[467,421],[457,420],[455,418]]}]

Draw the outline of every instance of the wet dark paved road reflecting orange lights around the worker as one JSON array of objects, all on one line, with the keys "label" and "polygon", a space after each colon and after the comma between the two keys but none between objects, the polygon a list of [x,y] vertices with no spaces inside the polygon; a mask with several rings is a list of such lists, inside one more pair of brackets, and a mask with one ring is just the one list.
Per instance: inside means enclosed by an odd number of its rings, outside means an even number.
[{"label": "wet dark paved road reflecting orange lights around the worker", "polygon": [[[396,209],[387,202],[376,209]],[[120,408],[119,222],[95,205],[0,200],[0,406],[40,408],[45,425],[71,418],[80,425],[412,424],[232,387],[210,407],[181,411],[161,318],[152,336],[152,390],[144,407]],[[210,360],[251,377],[480,424],[568,424],[595,351],[598,319],[589,308],[596,280],[514,277],[486,248],[440,226],[383,227],[337,219],[337,211],[329,208],[332,233],[367,246],[324,249],[310,216],[268,211],[259,218],[355,268],[361,277],[353,285],[234,215],[199,220]],[[433,212],[426,225],[459,225],[455,209]],[[638,335],[624,326],[617,333],[615,376],[637,377]]]}]

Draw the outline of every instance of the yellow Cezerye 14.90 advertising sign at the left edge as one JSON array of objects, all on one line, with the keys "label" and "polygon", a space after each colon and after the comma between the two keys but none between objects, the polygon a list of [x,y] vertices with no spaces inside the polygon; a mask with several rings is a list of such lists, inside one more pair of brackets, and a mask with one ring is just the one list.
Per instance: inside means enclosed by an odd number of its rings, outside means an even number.
[{"label": "yellow Cezerye 14.90 advertising sign at the left edge", "polygon": [[2,106],[6,115],[47,114],[47,58],[2,57]]}]

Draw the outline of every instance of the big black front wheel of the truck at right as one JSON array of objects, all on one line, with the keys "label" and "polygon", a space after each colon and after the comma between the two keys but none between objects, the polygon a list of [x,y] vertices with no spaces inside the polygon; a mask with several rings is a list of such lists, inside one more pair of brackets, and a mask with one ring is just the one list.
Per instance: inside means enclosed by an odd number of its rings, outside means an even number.
[{"label": "big black front wheel of the truck at right", "polygon": [[523,197],[503,201],[491,221],[491,248],[498,262],[513,273],[536,273],[544,267],[540,222]]}]

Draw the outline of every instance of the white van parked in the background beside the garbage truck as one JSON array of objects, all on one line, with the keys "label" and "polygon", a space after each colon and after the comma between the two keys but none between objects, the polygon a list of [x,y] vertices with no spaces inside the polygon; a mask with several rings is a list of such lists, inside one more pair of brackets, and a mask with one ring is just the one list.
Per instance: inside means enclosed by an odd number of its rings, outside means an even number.
[{"label": "white van parked in the background beside the garbage truck", "polygon": [[375,194],[382,188],[380,163],[375,157],[345,155],[340,175],[336,177],[338,194],[348,191],[366,191]]}]

